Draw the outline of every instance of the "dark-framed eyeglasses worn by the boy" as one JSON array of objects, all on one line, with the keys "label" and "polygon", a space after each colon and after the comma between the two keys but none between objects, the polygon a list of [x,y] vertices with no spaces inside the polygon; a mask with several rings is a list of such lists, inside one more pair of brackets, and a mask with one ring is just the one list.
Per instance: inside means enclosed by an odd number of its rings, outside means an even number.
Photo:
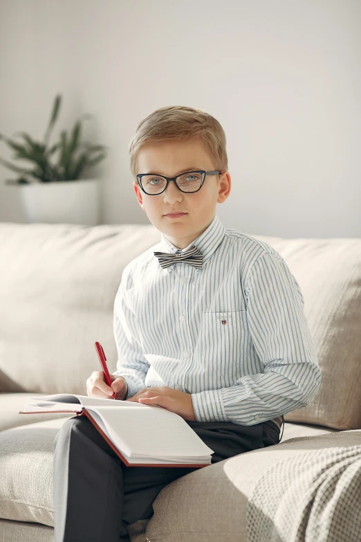
[{"label": "dark-framed eyeglasses worn by the boy", "polygon": [[180,192],[189,194],[201,190],[206,175],[218,175],[219,173],[222,172],[219,170],[196,170],[186,171],[176,177],[165,177],[165,175],[158,175],[157,173],[139,173],[137,181],[142,191],[149,196],[156,196],[164,192],[170,181],[176,183]]}]

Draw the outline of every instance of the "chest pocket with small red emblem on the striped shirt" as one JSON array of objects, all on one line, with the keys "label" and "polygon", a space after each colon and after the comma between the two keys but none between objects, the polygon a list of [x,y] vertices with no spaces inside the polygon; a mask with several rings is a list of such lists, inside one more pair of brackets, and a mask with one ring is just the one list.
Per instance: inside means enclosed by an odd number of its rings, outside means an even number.
[{"label": "chest pocket with small red emblem on the striped shirt", "polygon": [[246,359],[247,347],[246,310],[202,314],[199,356],[205,368],[241,363]]}]

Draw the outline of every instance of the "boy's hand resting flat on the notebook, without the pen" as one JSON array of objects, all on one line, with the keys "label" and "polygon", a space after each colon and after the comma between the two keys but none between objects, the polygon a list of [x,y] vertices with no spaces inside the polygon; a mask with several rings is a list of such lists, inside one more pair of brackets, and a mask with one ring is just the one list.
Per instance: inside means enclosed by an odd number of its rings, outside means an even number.
[{"label": "boy's hand resting flat on the notebook, without the pen", "polygon": [[167,408],[171,412],[178,414],[188,422],[195,422],[192,395],[190,393],[181,392],[169,388],[169,386],[161,386],[160,388],[143,388],[138,391],[133,397],[125,399],[126,401],[139,402],[147,405],[159,405]]}]

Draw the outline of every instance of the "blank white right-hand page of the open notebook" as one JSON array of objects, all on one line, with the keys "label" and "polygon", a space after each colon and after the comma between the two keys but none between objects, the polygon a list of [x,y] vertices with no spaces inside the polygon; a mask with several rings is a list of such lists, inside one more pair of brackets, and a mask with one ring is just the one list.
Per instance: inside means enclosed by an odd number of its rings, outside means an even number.
[{"label": "blank white right-hand page of the open notebook", "polygon": [[161,406],[129,408],[89,407],[102,418],[115,446],[129,457],[203,457],[214,451],[185,422]]}]

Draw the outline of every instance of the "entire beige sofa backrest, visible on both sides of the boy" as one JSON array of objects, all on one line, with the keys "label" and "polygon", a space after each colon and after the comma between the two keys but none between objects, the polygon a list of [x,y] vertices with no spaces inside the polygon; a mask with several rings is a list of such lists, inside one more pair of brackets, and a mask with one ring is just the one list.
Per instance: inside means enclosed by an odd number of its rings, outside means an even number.
[{"label": "entire beige sofa backrest, visible on both sides of the boy", "polygon": [[[322,370],[311,404],[285,421],[361,428],[361,239],[252,236],[297,279]],[[114,372],[122,271],[159,241],[152,224],[0,223],[0,392],[86,395],[100,370],[95,341]]]}]

